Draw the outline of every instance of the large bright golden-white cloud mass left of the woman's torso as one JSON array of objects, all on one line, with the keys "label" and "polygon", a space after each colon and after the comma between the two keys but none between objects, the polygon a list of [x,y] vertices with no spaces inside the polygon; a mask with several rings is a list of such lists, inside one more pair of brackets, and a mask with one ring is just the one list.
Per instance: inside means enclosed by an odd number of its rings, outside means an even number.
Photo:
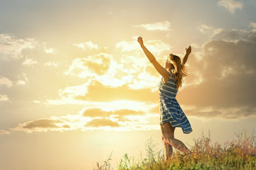
[{"label": "large bright golden-white cloud mass left of the woman's torso", "polygon": [[[152,44],[158,43],[154,42]],[[85,80],[86,83],[60,89],[59,94],[63,101],[49,102],[65,103],[68,100],[73,100],[72,103],[75,101],[77,103],[80,103],[80,101],[107,102],[115,100],[150,101],[157,95],[156,90],[160,75],[152,66],[146,64],[146,62],[150,63],[146,57],[137,57],[137,55],[137,53],[134,55],[124,54],[120,57],[119,64],[112,59],[112,56],[106,57],[105,53],[73,60],[68,72],[82,78],[88,78]],[[106,68],[104,68],[105,65],[98,67],[96,74],[96,71],[89,69],[87,65],[92,68],[91,62],[98,64],[101,58],[109,59],[109,67],[107,65]],[[102,74],[103,70],[105,74]],[[98,97],[99,94],[101,97]]]}]

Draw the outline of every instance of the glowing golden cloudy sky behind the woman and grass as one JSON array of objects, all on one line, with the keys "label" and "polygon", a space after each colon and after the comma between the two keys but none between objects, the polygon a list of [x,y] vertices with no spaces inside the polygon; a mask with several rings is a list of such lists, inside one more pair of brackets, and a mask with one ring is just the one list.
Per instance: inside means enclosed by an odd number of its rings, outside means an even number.
[{"label": "glowing golden cloudy sky behind the woman and grass", "polygon": [[188,57],[176,96],[193,132],[190,148],[256,128],[256,1],[0,1],[0,169],[93,169],[112,152],[163,149],[161,75]]}]

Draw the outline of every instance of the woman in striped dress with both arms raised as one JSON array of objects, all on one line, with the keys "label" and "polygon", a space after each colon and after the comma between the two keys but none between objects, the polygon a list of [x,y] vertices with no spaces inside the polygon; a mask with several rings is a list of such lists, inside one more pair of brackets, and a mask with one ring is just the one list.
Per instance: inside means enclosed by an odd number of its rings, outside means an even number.
[{"label": "woman in striped dress with both arms raised", "polygon": [[174,138],[174,130],[176,127],[182,128],[183,133],[192,132],[191,124],[183,113],[181,106],[176,101],[178,88],[181,87],[183,77],[187,76],[184,64],[188,60],[191,53],[191,46],[186,48],[186,55],[181,59],[170,54],[166,60],[165,66],[162,67],[155,57],[144,46],[142,37],[137,39],[142,47],[146,57],[154,65],[155,69],[161,74],[159,81],[159,101],[160,101],[160,126],[162,134],[162,142],[164,144],[165,160],[169,159],[173,153],[173,148],[180,150],[184,154],[191,154],[191,151],[180,140]]}]

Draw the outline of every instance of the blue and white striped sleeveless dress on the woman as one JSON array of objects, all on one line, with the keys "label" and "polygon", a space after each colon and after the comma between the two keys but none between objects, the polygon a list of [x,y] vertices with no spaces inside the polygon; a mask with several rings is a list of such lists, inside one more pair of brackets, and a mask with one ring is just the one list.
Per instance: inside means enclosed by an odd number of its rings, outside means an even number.
[{"label": "blue and white striped sleeveless dress on the woman", "polygon": [[171,72],[169,72],[169,80],[166,83],[162,79],[159,81],[160,125],[169,122],[172,127],[182,128],[183,133],[188,134],[193,130],[176,100],[177,92],[176,83],[174,78],[171,77]]}]

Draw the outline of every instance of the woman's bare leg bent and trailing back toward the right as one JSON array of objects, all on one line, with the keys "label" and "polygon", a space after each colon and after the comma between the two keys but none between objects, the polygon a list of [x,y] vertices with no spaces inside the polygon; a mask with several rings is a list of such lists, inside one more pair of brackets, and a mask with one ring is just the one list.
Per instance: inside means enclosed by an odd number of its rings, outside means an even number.
[{"label": "woman's bare leg bent and trailing back toward the right", "polygon": [[175,147],[176,149],[180,150],[184,154],[189,154],[191,151],[183,144],[180,140],[174,138],[174,130],[170,123],[164,123],[161,125],[161,132],[164,136],[164,140],[169,143],[169,145]]}]

